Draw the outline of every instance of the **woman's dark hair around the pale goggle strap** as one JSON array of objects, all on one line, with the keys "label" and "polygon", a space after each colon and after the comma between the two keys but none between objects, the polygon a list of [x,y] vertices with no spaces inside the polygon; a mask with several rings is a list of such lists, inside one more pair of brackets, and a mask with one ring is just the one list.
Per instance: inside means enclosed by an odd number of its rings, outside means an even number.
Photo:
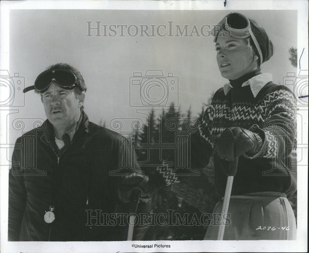
[{"label": "woman's dark hair around the pale goggle strap", "polygon": [[[265,32],[264,28],[260,27],[258,24],[256,24],[256,22],[252,19],[250,20],[250,24],[251,24],[251,30],[252,33],[254,34],[257,43],[260,46],[261,52],[262,52],[262,56],[263,56],[263,62],[266,62],[269,60],[270,57],[272,57],[273,52],[274,52],[274,47],[273,47],[273,43],[271,42],[271,40],[269,39],[267,33]],[[259,56],[259,53],[257,51],[257,48],[251,38],[248,37],[249,44],[253,47],[254,49],[254,53],[255,55]],[[260,65],[263,62],[258,62],[258,67],[260,67]]]}]

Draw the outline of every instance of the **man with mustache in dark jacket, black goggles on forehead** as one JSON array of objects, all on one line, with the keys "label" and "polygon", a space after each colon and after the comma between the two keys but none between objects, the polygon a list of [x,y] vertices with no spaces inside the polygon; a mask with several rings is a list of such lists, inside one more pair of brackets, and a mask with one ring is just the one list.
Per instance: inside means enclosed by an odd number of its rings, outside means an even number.
[{"label": "man with mustache in dark jacket, black goggles on forehead", "polygon": [[[87,88],[74,67],[50,66],[24,92],[32,89],[40,93],[48,119],[16,141],[9,174],[8,240],[125,240],[127,226],[115,217],[108,225],[104,217],[128,212],[123,202],[130,200],[133,187],[147,182],[146,177],[134,177],[138,167],[127,169],[131,176],[124,187],[123,177],[110,175],[125,159],[119,151],[129,153],[132,146],[88,121],[83,111]],[[33,133],[35,145],[22,143]],[[17,148],[20,143],[23,148]]]}]

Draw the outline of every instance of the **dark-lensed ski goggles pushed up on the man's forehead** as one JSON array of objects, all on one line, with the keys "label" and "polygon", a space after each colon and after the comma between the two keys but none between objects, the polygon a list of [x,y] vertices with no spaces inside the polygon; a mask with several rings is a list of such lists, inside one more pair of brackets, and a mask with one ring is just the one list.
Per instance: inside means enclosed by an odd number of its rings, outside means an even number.
[{"label": "dark-lensed ski goggles pushed up on the man's forehead", "polygon": [[52,83],[57,84],[60,88],[72,90],[78,85],[78,78],[72,71],[66,69],[46,70],[38,75],[34,85],[24,88],[23,92],[34,89],[44,92]]}]

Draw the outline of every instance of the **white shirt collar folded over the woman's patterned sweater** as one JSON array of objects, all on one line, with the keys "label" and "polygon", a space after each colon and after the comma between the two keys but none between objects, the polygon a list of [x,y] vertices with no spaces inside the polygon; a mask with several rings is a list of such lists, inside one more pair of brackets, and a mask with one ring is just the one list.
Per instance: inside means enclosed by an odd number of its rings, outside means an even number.
[{"label": "white shirt collar folded over the woman's patterned sweater", "polygon": [[[260,92],[260,90],[265,86],[265,84],[273,81],[273,75],[271,73],[262,73],[260,75],[256,75],[244,82],[241,87],[250,85],[252,94],[254,97]],[[226,95],[230,89],[233,88],[230,83],[224,84],[223,90]]]}]

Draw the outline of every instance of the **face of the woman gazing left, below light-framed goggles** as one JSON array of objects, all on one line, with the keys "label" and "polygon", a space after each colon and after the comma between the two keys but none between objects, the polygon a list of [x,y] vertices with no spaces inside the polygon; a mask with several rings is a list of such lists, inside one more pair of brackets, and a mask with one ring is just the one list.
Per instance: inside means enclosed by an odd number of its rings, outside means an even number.
[{"label": "face of the woman gazing left, below light-framed goggles", "polygon": [[246,44],[246,39],[218,37],[216,50],[219,70],[226,79],[235,80],[257,69],[258,57],[254,56],[253,48]]}]

